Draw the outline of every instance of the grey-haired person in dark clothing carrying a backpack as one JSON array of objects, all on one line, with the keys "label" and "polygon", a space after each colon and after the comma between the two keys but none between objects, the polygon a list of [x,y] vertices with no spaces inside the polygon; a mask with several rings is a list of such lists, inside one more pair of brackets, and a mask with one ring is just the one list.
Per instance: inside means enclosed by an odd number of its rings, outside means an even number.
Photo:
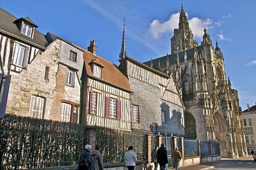
[{"label": "grey-haired person in dark clothing carrying a backpack", "polygon": [[[86,158],[86,165],[83,158]],[[91,145],[86,144],[84,151],[82,151],[80,155],[77,170],[93,170],[92,164],[93,158],[91,158]]]}]

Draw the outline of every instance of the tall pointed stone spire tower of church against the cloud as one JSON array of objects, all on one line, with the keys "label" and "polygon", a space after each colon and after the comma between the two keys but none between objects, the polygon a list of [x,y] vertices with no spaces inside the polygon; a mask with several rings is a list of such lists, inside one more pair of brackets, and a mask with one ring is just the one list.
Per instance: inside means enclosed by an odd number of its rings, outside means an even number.
[{"label": "tall pointed stone spire tower of church against the cloud", "polygon": [[181,3],[181,14],[179,17],[179,29],[174,29],[174,36],[171,38],[172,53],[177,53],[182,50],[187,50],[198,46],[194,41],[192,30],[190,30],[190,24],[188,23],[187,15],[183,9]]}]

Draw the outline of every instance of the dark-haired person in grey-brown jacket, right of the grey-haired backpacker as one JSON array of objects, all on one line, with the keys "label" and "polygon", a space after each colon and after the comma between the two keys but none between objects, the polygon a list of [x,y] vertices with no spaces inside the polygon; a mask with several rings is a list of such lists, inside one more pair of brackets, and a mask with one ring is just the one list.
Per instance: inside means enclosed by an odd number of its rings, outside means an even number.
[{"label": "dark-haired person in grey-brown jacket, right of the grey-haired backpacker", "polygon": [[100,144],[96,144],[95,150],[91,151],[93,157],[93,169],[94,170],[104,170],[103,168],[103,157],[100,153]]}]

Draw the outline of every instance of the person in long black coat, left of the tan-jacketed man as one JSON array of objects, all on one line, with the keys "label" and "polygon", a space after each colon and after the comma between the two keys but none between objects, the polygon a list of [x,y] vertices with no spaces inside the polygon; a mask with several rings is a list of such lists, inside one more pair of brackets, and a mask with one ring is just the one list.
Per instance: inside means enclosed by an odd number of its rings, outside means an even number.
[{"label": "person in long black coat, left of the tan-jacketed man", "polygon": [[161,147],[156,152],[157,162],[160,165],[161,170],[167,169],[167,151],[165,149],[165,144],[161,144]]}]

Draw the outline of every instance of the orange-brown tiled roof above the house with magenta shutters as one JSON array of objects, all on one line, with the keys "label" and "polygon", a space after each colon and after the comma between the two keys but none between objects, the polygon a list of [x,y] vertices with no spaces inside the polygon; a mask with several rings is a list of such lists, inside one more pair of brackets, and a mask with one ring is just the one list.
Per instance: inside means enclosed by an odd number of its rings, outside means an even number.
[{"label": "orange-brown tiled roof above the house with magenta shutters", "polygon": [[127,77],[125,77],[125,75],[122,74],[122,72],[118,69],[118,67],[115,64],[107,61],[106,59],[103,59],[102,57],[93,55],[88,50],[84,50],[84,65],[86,67],[86,73],[87,75],[91,75],[91,77],[95,77],[93,76],[93,72],[90,66],[92,62],[102,66],[101,79],[104,80],[104,82],[109,82],[114,86],[125,88],[127,91],[131,92],[131,88]]}]

